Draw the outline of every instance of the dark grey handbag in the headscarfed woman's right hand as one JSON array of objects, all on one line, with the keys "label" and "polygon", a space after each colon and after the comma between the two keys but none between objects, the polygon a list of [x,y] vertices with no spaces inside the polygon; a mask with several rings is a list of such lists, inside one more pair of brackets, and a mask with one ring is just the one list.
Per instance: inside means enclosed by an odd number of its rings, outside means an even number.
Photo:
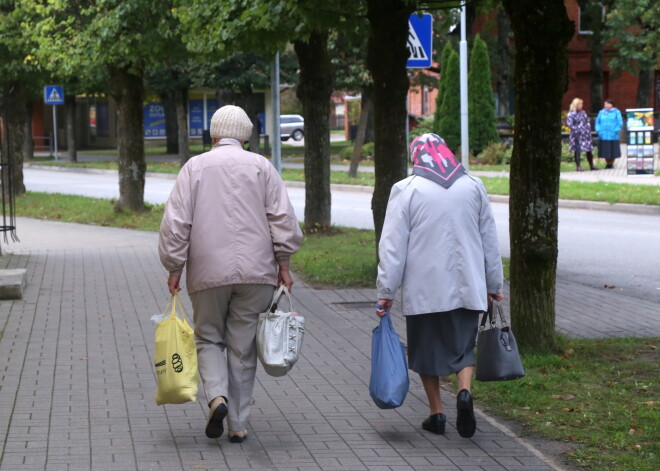
[{"label": "dark grey handbag in the headscarfed woman's right hand", "polygon": [[[496,313],[494,313],[495,311]],[[502,327],[497,327],[499,315]],[[490,328],[486,329],[486,321]],[[502,313],[502,305],[493,304],[484,312],[477,335],[477,380],[506,381],[525,376],[518,344]]]}]

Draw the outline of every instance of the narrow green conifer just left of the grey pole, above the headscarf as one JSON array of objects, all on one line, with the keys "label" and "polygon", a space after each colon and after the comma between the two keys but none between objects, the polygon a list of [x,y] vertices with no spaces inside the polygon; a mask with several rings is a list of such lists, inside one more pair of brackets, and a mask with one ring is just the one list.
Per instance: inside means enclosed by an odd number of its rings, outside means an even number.
[{"label": "narrow green conifer just left of the grey pole, above the headscarf", "polygon": [[452,51],[449,55],[445,75],[447,78],[445,99],[442,100],[437,129],[438,134],[447,142],[449,148],[456,152],[458,146],[461,145],[460,70],[456,51]]}]

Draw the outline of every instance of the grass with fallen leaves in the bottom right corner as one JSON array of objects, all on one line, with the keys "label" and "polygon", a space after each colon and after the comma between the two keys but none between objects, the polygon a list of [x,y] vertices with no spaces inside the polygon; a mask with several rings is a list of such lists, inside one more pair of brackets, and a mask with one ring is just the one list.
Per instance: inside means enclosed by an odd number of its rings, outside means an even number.
[{"label": "grass with fallen leaves in the bottom right corner", "polygon": [[522,354],[525,378],[475,382],[475,401],[526,435],[570,442],[566,457],[582,468],[657,470],[659,341],[563,339],[559,353]]}]

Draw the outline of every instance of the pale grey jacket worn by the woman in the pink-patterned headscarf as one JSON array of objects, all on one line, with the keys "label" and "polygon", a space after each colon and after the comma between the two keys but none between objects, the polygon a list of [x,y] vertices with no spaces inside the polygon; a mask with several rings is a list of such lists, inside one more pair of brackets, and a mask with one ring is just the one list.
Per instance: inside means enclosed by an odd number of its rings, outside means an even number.
[{"label": "pale grey jacket worn by the woman in the pink-patterned headscarf", "polygon": [[392,187],[378,246],[378,298],[402,289],[405,316],[458,308],[485,311],[502,292],[502,258],[483,183],[449,188],[420,176]]}]

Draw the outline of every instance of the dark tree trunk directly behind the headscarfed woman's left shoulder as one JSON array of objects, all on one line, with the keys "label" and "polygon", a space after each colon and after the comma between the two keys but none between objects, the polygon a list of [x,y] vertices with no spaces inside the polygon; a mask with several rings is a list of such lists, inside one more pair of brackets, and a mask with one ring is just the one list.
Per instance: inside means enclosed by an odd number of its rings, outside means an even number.
[{"label": "dark tree trunk directly behind the headscarfed woman's left shoulder", "polygon": [[385,221],[390,190],[407,175],[406,95],[408,17],[413,4],[405,0],[367,0],[370,31],[367,66],[373,78],[375,178],[371,200],[376,244]]}]

